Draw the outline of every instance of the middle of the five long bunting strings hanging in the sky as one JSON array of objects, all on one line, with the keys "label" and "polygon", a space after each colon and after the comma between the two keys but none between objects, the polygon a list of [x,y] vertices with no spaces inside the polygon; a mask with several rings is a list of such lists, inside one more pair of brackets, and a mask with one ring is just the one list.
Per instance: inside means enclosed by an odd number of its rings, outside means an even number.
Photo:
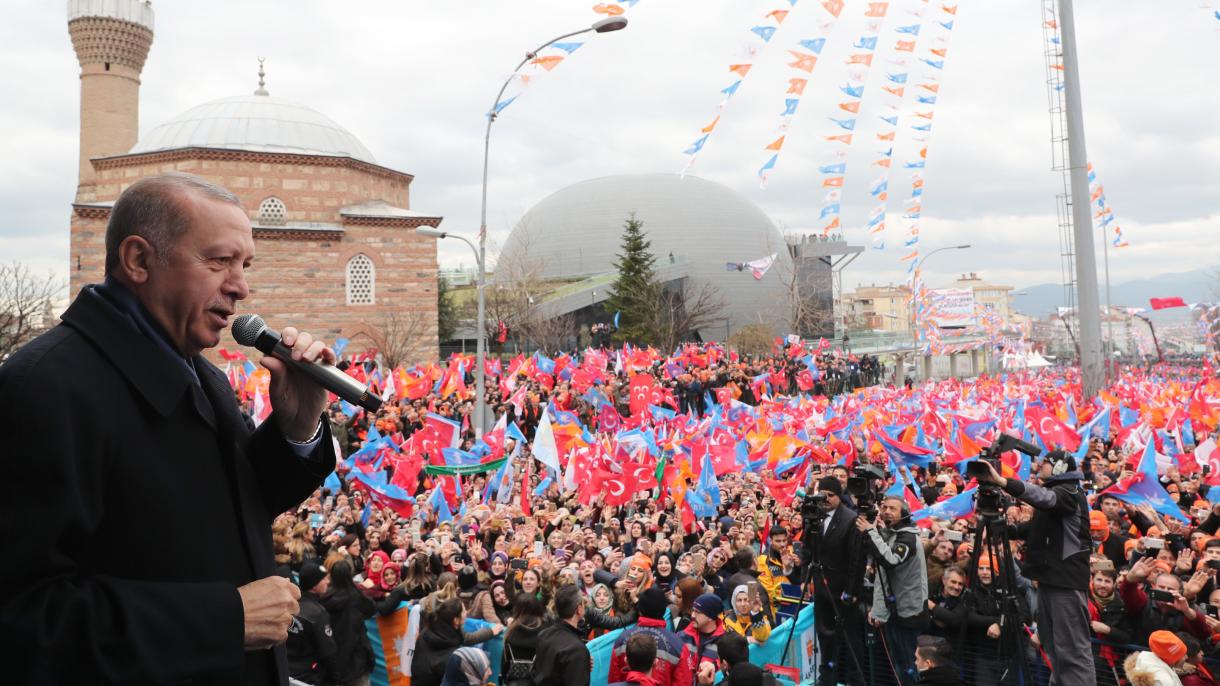
[{"label": "middle of the five long bunting strings hanging in the sky", "polygon": [[[852,44],[852,48],[856,49],[858,52],[852,52],[847,57],[847,63],[849,66],[848,82],[847,84],[839,87],[839,90],[847,95],[847,100],[839,103],[838,109],[850,114],[852,116],[847,118],[828,117],[830,121],[838,127],[839,132],[827,135],[826,140],[831,143],[841,143],[842,146],[831,153],[832,157],[838,161],[817,167],[817,171],[822,175],[822,188],[828,189],[826,192],[826,197],[822,199],[822,209],[817,216],[820,221],[830,220],[822,227],[822,236],[827,236],[832,229],[841,227],[839,217],[843,214],[843,179],[847,177],[847,151],[852,146],[852,142],[855,137],[855,115],[860,111],[860,103],[864,100],[864,88],[869,79],[869,71],[872,68],[872,60],[876,56],[878,33],[881,32],[881,21],[886,18],[886,13],[888,11],[889,2],[867,4],[864,12],[864,16],[867,18],[864,33],[855,43]],[[875,217],[870,217],[869,221],[874,222]]]}]

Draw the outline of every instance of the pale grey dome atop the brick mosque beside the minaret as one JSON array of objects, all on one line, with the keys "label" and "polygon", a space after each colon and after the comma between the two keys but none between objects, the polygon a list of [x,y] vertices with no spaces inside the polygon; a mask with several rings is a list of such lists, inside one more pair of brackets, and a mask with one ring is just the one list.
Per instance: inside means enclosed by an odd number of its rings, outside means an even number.
[{"label": "pale grey dome atop the brick mosque beside the minaret", "polygon": [[140,137],[131,153],[179,148],[331,155],[377,164],[355,135],[326,115],[271,95],[238,95],[192,107]]}]

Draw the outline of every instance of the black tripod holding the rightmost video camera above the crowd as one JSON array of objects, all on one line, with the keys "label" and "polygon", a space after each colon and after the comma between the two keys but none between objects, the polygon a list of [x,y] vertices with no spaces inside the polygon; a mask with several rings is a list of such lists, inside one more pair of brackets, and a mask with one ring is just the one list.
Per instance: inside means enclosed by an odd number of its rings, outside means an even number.
[{"label": "black tripod holding the rightmost video camera above the crowd", "polygon": [[[1025,659],[1025,634],[1021,626],[1021,602],[1016,585],[1016,568],[1011,557],[1011,547],[1008,525],[1000,521],[998,510],[1002,508],[986,508],[980,505],[980,524],[975,530],[974,549],[970,553],[970,570],[967,574],[970,585],[975,593],[980,593],[982,583],[978,580],[978,560],[983,551],[987,551],[988,569],[991,570],[991,586],[999,599],[999,624],[1000,636],[996,647],[996,658],[1008,659],[1009,669],[1016,670],[1016,684],[1030,681],[1030,665]],[[966,624],[961,624],[959,644],[965,643]]]}]

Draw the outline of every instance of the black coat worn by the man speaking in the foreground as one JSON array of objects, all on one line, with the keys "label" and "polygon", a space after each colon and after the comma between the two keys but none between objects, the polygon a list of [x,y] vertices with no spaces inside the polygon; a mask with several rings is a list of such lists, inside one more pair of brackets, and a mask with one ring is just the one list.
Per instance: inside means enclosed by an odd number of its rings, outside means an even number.
[{"label": "black coat worn by the man speaking in the foreground", "polygon": [[[287,684],[243,649],[237,587],[274,571],[271,521],[334,468],[272,415],[242,421],[93,287],[0,366],[0,646],[6,684]],[[15,448],[15,449],[13,449]]]}]

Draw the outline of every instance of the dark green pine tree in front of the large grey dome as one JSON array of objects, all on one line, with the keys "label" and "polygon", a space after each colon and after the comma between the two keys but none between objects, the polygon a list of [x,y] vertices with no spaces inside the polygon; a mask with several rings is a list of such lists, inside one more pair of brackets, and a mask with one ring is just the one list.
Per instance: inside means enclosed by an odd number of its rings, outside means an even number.
[{"label": "dark green pine tree in front of the large grey dome", "polygon": [[637,220],[634,214],[623,225],[620,245],[614,264],[619,276],[604,304],[611,317],[621,312],[614,338],[634,344],[650,343],[651,331],[647,322],[658,289],[656,270],[653,267],[656,256],[653,255],[651,242],[644,236],[644,222]]}]

